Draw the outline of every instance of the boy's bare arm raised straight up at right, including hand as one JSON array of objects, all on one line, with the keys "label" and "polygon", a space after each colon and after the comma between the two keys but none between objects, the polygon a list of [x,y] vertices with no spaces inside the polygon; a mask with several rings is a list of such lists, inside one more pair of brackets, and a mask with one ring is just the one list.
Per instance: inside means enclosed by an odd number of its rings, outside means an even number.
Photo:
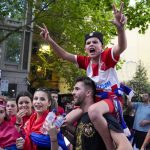
[{"label": "boy's bare arm raised straight up at right, including hand", "polygon": [[125,34],[124,25],[127,22],[127,18],[123,14],[124,3],[121,2],[120,10],[117,10],[113,5],[114,19],[111,21],[117,28],[118,44],[114,46],[114,56],[119,56],[127,48],[127,39]]}]

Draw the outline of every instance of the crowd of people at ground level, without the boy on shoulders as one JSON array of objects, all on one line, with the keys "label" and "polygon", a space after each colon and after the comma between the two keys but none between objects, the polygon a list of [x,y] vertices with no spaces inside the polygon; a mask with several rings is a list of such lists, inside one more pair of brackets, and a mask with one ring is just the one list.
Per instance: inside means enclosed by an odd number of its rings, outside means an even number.
[{"label": "crowd of people at ground level, without the boy on shoulders", "polygon": [[[49,89],[39,88],[33,96],[27,91],[18,93],[16,100],[0,96],[0,149],[107,150],[103,138],[94,127],[88,113],[89,108],[95,104],[94,81],[89,77],[76,79],[70,112],[64,111],[65,108],[61,106],[58,107],[58,99],[52,98],[52,93],[54,92]],[[56,91],[55,96],[58,98]],[[132,113],[127,113],[126,110],[124,116],[132,132],[132,138],[125,136],[122,126],[111,113],[104,114],[109,133],[114,141],[112,149],[149,150],[150,94],[142,94],[142,102],[128,100],[127,106]],[[72,114],[79,108],[82,110],[82,115],[72,118]],[[55,121],[51,121],[52,117],[49,122],[46,120],[49,112],[53,110],[56,118],[63,116],[61,127],[56,127]],[[127,117],[127,114],[132,117]],[[47,133],[43,132],[43,126]]]}]

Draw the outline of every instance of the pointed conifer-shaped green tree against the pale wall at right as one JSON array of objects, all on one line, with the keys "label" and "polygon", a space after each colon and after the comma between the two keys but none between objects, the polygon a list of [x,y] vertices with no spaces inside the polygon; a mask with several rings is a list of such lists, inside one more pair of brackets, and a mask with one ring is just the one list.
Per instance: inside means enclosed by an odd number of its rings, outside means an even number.
[{"label": "pointed conifer-shaped green tree against the pale wall at right", "polygon": [[140,94],[149,92],[150,83],[148,82],[147,70],[139,61],[135,75],[132,80],[127,83],[136,92],[136,95],[140,98]]}]

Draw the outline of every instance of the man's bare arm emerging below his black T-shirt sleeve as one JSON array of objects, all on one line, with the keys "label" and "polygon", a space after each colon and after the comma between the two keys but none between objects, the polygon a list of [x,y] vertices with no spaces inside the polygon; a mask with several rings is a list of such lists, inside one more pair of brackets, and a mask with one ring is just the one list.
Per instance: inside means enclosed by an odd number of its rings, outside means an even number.
[{"label": "man's bare arm emerging below his black T-shirt sleeve", "polygon": [[117,133],[110,130],[111,136],[117,146],[117,150],[133,150],[131,143],[124,133]]}]

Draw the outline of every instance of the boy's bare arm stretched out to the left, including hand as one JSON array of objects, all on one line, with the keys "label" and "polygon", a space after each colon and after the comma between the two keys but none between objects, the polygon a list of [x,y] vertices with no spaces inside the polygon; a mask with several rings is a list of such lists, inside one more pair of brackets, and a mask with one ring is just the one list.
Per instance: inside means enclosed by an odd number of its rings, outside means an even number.
[{"label": "boy's bare arm stretched out to the left, including hand", "polygon": [[76,63],[76,59],[75,59],[75,55],[68,53],[67,51],[65,51],[62,47],[60,47],[49,35],[49,31],[47,29],[47,27],[45,26],[45,24],[43,24],[43,27],[40,27],[38,25],[36,25],[41,33],[40,36],[50,44],[51,48],[53,49],[53,51],[55,52],[55,54],[64,59],[64,60],[68,60],[70,62]]}]

